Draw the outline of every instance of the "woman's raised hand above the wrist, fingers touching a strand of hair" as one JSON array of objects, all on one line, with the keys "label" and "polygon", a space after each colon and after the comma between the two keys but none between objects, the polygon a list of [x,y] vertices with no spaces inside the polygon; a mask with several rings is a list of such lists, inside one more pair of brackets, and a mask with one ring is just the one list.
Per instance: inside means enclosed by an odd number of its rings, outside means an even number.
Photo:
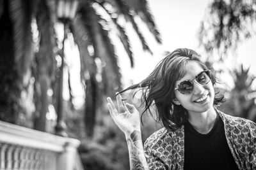
[{"label": "woman's raised hand above the wrist, fingers touching a strand of hair", "polygon": [[110,97],[107,100],[111,117],[125,135],[140,131],[140,113],[134,105],[124,103],[120,94],[116,96],[117,109]]}]

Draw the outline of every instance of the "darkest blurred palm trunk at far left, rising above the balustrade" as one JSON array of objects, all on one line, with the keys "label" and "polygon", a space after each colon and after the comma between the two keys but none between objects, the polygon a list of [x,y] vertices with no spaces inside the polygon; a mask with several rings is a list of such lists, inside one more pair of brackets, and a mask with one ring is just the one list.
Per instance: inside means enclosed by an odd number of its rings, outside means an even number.
[{"label": "darkest blurred palm trunk at far left, rising above the balustrade", "polygon": [[21,92],[28,87],[33,59],[32,3],[0,1],[0,6],[1,120],[19,124]]}]

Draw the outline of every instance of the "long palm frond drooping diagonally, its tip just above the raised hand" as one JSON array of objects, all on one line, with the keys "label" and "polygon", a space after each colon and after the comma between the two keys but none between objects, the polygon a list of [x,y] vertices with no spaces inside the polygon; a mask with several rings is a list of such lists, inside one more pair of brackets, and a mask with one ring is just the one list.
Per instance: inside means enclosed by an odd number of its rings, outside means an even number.
[{"label": "long palm frond drooping diagonally, its tip just above the raised hand", "polygon": [[[120,68],[117,64],[114,46],[111,43],[111,39],[108,37],[108,31],[103,28],[100,22],[104,22],[97,13],[95,13],[92,6],[83,6],[78,13],[81,13],[84,25],[88,30],[88,34],[92,38],[95,57],[99,57],[102,61],[103,68],[110,74],[108,77],[108,89],[109,95],[113,96],[113,90],[121,89],[121,74]],[[104,24],[104,23],[103,23]]]}]

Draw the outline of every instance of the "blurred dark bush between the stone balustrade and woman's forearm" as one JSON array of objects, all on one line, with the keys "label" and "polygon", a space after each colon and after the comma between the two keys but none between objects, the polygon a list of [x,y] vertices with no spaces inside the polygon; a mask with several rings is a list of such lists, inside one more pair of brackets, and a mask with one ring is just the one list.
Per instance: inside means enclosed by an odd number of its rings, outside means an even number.
[{"label": "blurred dark bush between the stone balustrade and woman's forearm", "polygon": [[80,148],[84,168],[129,169],[129,154],[124,134],[115,127],[109,116],[97,126],[92,141],[82,141]]}]

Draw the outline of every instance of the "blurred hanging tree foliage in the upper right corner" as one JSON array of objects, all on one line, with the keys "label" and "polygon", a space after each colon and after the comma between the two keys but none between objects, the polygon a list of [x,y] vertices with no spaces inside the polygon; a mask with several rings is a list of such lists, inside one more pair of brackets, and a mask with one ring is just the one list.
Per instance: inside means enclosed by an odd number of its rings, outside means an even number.
[{"label": "blurred hanging tree foliage in the upper right corner", "polygon": [[218,52],[220,59],[229,50],[255,34],[256,2],[241,0],[214,0],[209,4],[201,23],[199,40],[205,51],[212,56]]}]

